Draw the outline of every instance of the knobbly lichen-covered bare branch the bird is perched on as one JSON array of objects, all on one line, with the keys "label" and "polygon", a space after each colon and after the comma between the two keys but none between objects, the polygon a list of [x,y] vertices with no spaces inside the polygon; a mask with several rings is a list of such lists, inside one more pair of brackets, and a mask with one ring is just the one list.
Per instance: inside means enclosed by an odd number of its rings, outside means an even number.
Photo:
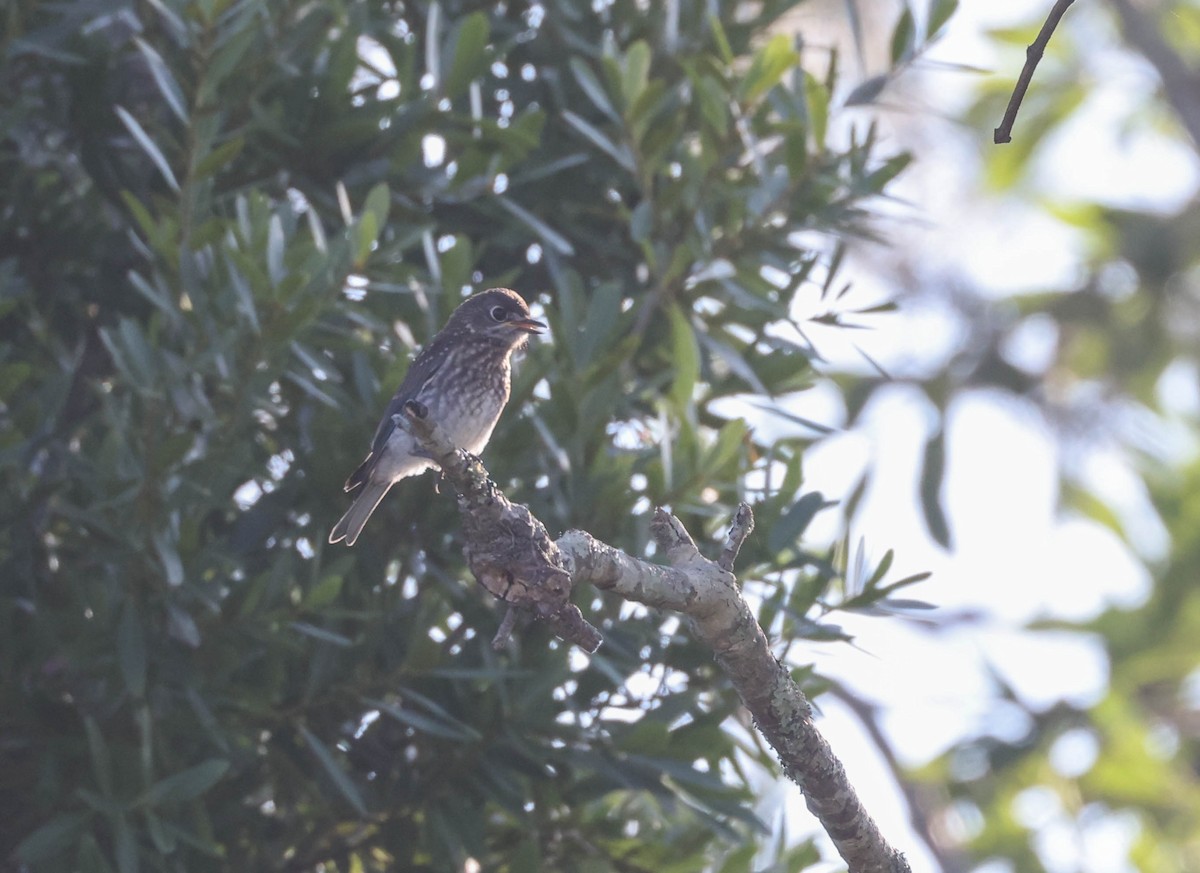
[{"label": "knobbly lichen-covered bare branch the bird is perched on", "polygon": [[455,448],[418,404],[408,404],[396,421],[442,465],[458,492],[464,552],[484,588],[550,621],[563,639],[588,651],[599,645],[600,634],[568,601],[574,583],[589,582],[626,600],[682,613],[692,633],[712,649],[851,873],[911,873],[904,855],[888,844],[863,807],[841,761],[812,723],[804,692],[772,654],[742,597],[731,570],[754,529],[748,505],[734,516],[720,562],[704,558],[683,523],[661,508],[650,532],[667,566],[641,561],[582,530],[570,530],[556,543],[528,507],[510,504],[479,459]]}]

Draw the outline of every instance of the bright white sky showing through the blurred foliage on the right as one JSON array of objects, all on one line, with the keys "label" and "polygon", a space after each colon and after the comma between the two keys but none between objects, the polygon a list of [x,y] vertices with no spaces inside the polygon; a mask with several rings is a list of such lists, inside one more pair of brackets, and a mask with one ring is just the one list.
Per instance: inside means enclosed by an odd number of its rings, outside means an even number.
[{"label": "bright white sky showing through the blurred foliage on the right", "polygon": [[[983,35],[989,28],[1044,16],[1048,6],[1040,0],[964,2],[931,58],[1015,78],[1022,59],[997,54]],[[1072,10],[1068,18],[1073,14],[1079,13]],[[1096,36],[1104,40],[1098,46],[1111,44],[1109,35]],[[1163,134],[1130,136],[1117,130],[1117,122],[1153,92],[1153,72],[1099,48],[1093,62],[1103,70],[1096,79],[1104,84],[1094,85],[1094,98],[1049,144],[1034,177],[1038,189],[1062,200],[1099,199],[1164,210],[1193,197],[1200,180],[1194,152]],[[895,134],[904,144],[902,128],[919,130],[920,143],[913,147],[922,164],[902,176],[895,189],[911,204],[906,213],[901,210],[907,219],[886,233],[928,265],[931,275],[965,277],[996,299],[1069,287],[1084,253],[1078,236],[1044,213],[1013,200],[989,200],[974,187],[979,153],[1002,147],[991,145],[990,126],[977,131],[953,121],[976,83],[970,73],[925,72],[920,94],[902,97],[923,101],[898,113],[901,130]],[[1033,88],[1038,88],[1037,78]],[[902,118],[906,113],[908,118]],[[1014,137],[1020,136],[1018,120]],[[904,233],[899,233],[901,224]],[[847,275],[857,293],[870,302],[892,296],[886,277],[871,276],[865,263],[859,267],[862,273],[851,267]],[[856,332],[853,339],[893,373],[920,372],[923,362],[937,360],[959,339],[953,320],[934,307],[883,315],[876,324],[875,331]],[[835,333],[830,331],[827,343],[818,342],[822,353],[862,368],[857,351]],[[1044,354],[1038,348],[1044,338],[1031,333],[1028,348],[1019,351],[1036,359]],[[802,397],[796,411],[830,425],[840,425],[844,415],[835,392],[821,390]],[[1021,735],[1020,712],[992,703],[990,672],[1037,708],[1062,699],[1080,705],[1096,702],[1108,681],[1100,645],[1081,634],[1032,633],[1022,626],[1038,618],[1086,619],[1108,606],[1134,604],[1148,589],[1145,570],[1117,537],[1091,522],[1058,516],[1057,476],[1063,459],[1056,441],[1037,410],[996,395],[970,395],[949,410],[944,499],[955,548],[952,553],[940,549],[916,508],[923,441],[932,421],[920,393],[896,385],[872,402],[862,427],[826,440],[805,456],[805,490],[833,498],[847,494],[870,460],[876,477],[853,536],[863,537],[876,559],[883,548],[896,547],[894,578],[934,571],[908,596],[942,608],[947,624],[938,632],[902,619],[839,615],[839,622],[857,636],[858,649],[814,644],[800,652],[822,673],[883,708],[883,728],[907,764],[924,763],[966,735]],[[1084,469],[1099,490],[1126,507],[1124,520],[1138,531],[1139,542],[1146,543],[1144,550],[1160,554],[1165,534],[1120,453],[1098,446],[1076,469]],[[810,530],[832,540],[838,534],[836,519],[818,516]],[[978,618],[953,620],[965,615]],[[932,868],[924,845],[908,830],[906,806],[886,764],[857,720],[832,699],[822,698],[822,708],[820,727],[884,833],[908,854],[913,869]],[[1063,771],[1086,769],[1094,755],[1086,741],[1062,746],[1056,747],[1054,763]],[[1121,859],[1136,837],[1135,823],[1110,817],[1080,833],[1052,797],[1032,789],[1021,795],[1015,812],[1042,829],[1039,850],[1051,871],[1132,869]],[[959,824],[970,829],[968,821]]]}]

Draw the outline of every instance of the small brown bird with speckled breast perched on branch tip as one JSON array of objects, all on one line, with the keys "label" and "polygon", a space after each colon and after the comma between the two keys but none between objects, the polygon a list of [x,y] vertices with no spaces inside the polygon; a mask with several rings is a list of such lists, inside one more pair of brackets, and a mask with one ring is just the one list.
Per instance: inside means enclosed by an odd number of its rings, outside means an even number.
[{"label": "small brown bird with speckled breast perched on branch tip", "polygon": [[491,288],[464,300],[413,361],[384,410],[371,451],[346,480],[358,492],[329,542],[353,546],[379,501],[396,482],[437,466],[392,416],[415,401],[450,441],[479,454],[509,402],[512,353],[546,325],[529,315],[516,291]]}]

